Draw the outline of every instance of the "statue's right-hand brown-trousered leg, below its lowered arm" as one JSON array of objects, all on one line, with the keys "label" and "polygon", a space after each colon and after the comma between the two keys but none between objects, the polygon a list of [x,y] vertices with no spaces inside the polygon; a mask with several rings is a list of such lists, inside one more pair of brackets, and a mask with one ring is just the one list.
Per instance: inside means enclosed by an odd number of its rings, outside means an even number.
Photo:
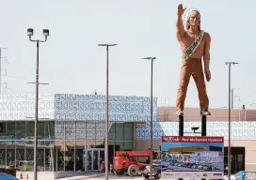
[{"label": "statue's right-hand brown-trousered leg, below its lowered arm", "polygon": [[199,92],[200,113],[201,115],[211,115],[211,113],[208,112],[209,98],[206,93],[206,85],[204,81],[201,60],[199,59],[194,61],[192,76],[196,82]]}]

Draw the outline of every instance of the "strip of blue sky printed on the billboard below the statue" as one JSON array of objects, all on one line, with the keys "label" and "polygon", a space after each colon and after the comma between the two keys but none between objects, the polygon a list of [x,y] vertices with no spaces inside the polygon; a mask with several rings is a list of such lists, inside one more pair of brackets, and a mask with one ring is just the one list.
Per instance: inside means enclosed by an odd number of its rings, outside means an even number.
[{"label": "strip of blue sky printed on the billboard below the statue", "polygon": [[218,146],[223,147],[223,143],[162,143],[162,149],[167,151],[170,147],[191,147],[191,146]]}]

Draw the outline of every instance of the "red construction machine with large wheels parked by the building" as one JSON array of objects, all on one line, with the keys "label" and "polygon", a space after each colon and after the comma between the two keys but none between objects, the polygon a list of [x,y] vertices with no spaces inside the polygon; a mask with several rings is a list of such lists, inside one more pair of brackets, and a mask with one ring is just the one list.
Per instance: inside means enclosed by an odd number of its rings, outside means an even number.
[{"label": "red construction machine with large wheels parked by the building", "polygon": [[116,175],[128,173],[136,176],[149,164],[151,151],[116,151],[113,158],[113,172]]}]

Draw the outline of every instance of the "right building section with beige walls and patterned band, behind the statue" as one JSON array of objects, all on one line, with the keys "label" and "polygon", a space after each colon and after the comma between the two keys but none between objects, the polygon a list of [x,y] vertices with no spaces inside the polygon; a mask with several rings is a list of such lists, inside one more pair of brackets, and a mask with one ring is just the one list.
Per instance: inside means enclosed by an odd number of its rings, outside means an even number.
[{"label": "right building section with beige walls and patterned band, behind the statue", "polygon": [[[192,128],[201,127],[200,110],[198,108],[185,108],[184,135],[196,136]],[[228,110],[211,109],[211,116],[207,117],[207,136],[224,136],[224,160],[228,165]],[[232,173],[245,170],[256,174],[256,111],[233,109],[232,121]],[[161,149],[161,136],[178,136],[179,124],[173,107],[157,107],[157,122],[153,124],[153,149]],[[136,150],[150,146],[150,124],[136,125]],[[187,133],[189,132],[189,133]]]}]

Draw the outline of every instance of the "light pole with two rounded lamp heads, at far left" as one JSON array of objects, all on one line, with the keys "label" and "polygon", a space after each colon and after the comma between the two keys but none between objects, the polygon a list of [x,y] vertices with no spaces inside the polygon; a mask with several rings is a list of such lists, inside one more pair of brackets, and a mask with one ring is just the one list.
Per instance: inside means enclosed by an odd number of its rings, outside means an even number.
[{"label": "light pole with two rounded lamp heads, at far left", "polygon": [[49,37],[49,30],[43,29],[42,34],[44,36],[44,40],[40,39],[32,39],[34,34],[34,30],[32,28],[27,29],[27,36],[29,40],[32,42],[37,42],[37,63],[36,63],[36,99],[35,99],[35,135],[34,135],[34,180],[38,179],[38,122],[39,122],[39,64],[40,64],[40,42],[45,42],[47,37]]}]

